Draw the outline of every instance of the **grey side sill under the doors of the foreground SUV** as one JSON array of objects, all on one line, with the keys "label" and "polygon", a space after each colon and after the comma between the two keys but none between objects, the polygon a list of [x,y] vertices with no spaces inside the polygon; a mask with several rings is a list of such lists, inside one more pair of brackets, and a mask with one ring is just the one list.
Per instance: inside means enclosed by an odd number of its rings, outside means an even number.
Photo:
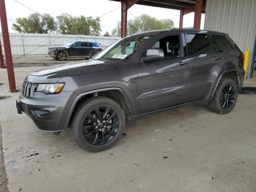
[{"label": "grey side sill under the doors of the foreground SUV", "polygon": [[207,103],[207,102],[210,101],[210,99],[211,99],[210,97],[209,98],[203,98],[203,99],[200,99],[200,100],[195,100],[195,101],[183,103],[183,104],[179,104],[179,105],[176,105],[176,106],[171,106],[171,107],[167,107],[167,108],[163,108],[163,109],[158,109],[158,110],[155,110],[155,111],[142,113],[142,114],[139,114],[139,115],[131,116],[130,120],[134,121],[137,118],[145,117],[145,116],[152,115],[152,114],[155,114],[155,113],[164,112],[164,111],[168,111],[168,110],[172,110],[172,109],[176,109],[176,108],[180,108],[180,107],[183,107],[183,106],[192,105],[192,104],[196,104],[196,103]]}]

